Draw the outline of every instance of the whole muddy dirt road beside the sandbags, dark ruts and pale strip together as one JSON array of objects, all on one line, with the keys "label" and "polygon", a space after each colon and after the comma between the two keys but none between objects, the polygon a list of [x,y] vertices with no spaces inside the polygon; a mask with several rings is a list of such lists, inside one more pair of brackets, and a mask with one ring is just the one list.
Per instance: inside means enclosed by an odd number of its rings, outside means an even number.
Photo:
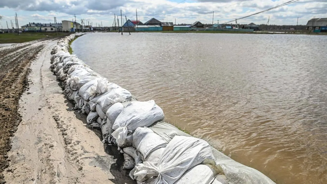
[{"label": "whole muddy dirt road beside the sandbags, dark ruts and pale strip together", "polygon": [[0,183],[135,183],[117,147],[61,94],[49,70],[55,44],[0,48]]}]

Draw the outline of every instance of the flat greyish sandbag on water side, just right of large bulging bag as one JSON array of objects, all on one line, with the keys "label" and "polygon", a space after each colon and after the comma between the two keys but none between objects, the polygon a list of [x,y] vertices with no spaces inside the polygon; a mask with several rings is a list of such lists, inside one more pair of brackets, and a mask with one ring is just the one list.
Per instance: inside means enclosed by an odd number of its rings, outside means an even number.
[{"label": "flat greyish sandbag on water side, just right of large bulging bag", "polygon": [[177,127],[163,121],[158,121],[150,125],[148,128],[150,128],[156,134],[160,135],[160,137],[166,140],[167,143],[170,142],[176,135],[192,137],[189,134],[179,130]]}]

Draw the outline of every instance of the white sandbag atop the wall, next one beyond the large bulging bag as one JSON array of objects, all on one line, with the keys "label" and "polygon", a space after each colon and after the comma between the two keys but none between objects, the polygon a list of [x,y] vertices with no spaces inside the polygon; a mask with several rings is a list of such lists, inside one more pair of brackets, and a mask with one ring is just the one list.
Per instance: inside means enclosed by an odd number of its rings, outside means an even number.
[{"label": "white sandbag atop the wall, next one beyond the large bulging bag", "polygon": [[131,96],[129,91],[119,87],[98,95],[91,101],[99,104],[103,112],[107,112],[112,104],[129,100]]}]

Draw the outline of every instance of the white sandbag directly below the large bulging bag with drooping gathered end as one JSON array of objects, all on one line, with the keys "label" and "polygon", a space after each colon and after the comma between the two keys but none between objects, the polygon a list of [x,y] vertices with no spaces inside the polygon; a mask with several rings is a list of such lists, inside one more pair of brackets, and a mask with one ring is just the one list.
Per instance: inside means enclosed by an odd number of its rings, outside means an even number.
[{"label": "white sandbag directly below the large bulging bag with drooping gathered end", "polygon": [[147,127],[138,127],[133,133],[133,147],[139,151],[144,158],[148,154],[161,147],[166,147],[166,141]]}]

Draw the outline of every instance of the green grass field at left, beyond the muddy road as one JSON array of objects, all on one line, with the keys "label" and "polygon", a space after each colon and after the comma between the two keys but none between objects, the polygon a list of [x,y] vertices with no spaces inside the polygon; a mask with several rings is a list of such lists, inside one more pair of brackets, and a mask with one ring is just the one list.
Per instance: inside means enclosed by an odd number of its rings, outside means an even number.
[{"label": "green grass field at left, beyond the muddy road", "polygon": [[[59,36],[68,35],[67,33],[58,33]],[[5,33],[0,34],[0,43],[23,43],[23,42],[30,42],[33,40],[38,40],[41,38],[47,37],[56,37],[56,32],[38,32],[38,33],[20,33],[12,34],[12,33]]]}]

